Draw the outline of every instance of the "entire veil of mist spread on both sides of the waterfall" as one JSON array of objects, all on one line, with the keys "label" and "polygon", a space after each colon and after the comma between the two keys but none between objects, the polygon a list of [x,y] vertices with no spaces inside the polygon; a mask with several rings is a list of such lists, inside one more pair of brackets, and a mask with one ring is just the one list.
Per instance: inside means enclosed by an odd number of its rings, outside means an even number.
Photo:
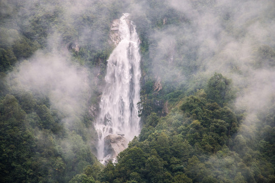
[{"label": "entire veil of mist spread on both sides of the waterfall", "polygon": [[[11,58],[5,65],[9,68],[1,70],[6,74],[7,88],[14,96],[27,92],[35,99],[46,98],[48,108],[61,114],[60,123],[69,135],[56,139],[68,162],[78,144],[95,153],[94,119],[105,84],[106,60],[114,49],[109,31],[114,19],[130,13],[140,37],[141,83],[151,87],[151,93],[144,97],[152,99],[150,110],[158,108],[160,116],[166,115],[164,105],[167,113],[176,110],[171,108],[206,88],[214,73],[232,79],[236,98],[227,105],[240,114],[239,131],[230,136],[227,147],[211,154],[206,162],[213,165],[209,171],[216,176],[222,176],[217,172],[229,165],[235,173],[241,172],[238,163],[247,151],[240,145],[243,138],[251,140],[243,146],[256,149],[253,140],[264,136],[258,129],[273,120],[266,113],[273,110],[275,98],[275,2],[156,2],[0,0],[0,56]],[[154,90],[155,83],[162,86]],[[179,92],[174,95],[175,91]],[[178,124],[184,120],[183,114],[179,115]],[[36,132],[41,142],[51,136],[43,130]],[[272,128],[269,130],[263,133],[271,133]],[[75,139],[77,142],[71,143]],[[231,154],[227,154],[229,149]]]}]

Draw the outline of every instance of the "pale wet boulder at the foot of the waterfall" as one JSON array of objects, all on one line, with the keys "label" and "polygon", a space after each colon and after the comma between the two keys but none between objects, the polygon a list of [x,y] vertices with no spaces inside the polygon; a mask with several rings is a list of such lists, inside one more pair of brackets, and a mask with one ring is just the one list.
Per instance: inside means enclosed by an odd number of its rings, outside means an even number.
[{"label": "pale wet boulder at the foot of the waterfall", "polygon": [[118,154],[127,148],[129,141],[119,134],[111,134],[104,138],[104,159],[100,162],[106,165],[109,161],[116,162]]}]

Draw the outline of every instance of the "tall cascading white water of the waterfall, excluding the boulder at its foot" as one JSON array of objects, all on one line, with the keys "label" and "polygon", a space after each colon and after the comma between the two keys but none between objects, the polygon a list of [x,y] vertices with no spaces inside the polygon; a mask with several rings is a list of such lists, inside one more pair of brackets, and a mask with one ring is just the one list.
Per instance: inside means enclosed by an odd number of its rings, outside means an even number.
[{"label": "tall cascading white water of the waterfall, excluding the boulder at its foot", "polygon": [[[139,37],[128,14],[120,18],[120,42],[107,60],[105,87],[95,128],[98,133],[97,158],[106,160],[104,138],[110,134],[124,134],[130,141],[140,132],[137,103],[140,101]],[[130,22],[130,23],[129,23]],[[104,162],[104,161],[103,161]]]}]

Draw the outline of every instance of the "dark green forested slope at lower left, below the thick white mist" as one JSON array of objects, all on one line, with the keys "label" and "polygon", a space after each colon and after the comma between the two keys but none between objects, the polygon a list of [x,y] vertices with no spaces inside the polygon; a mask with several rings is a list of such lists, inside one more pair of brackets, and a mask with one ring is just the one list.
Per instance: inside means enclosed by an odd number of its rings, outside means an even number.
[{"label": "dark green forested slope at lower left, below the thick white mist", "polygon": [[24,97],[19,102],[6,95],[0,104],[2,182],[67,182],[96,162],[82,137],[64,129],[57,111]]}]

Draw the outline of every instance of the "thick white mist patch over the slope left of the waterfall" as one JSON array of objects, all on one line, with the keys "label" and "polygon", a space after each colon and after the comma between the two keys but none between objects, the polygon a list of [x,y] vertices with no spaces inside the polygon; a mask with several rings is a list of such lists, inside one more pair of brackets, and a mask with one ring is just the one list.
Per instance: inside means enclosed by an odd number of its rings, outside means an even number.
[{"label": "thick white mist patch over the slope left of the waterfall", "polygon": [[9,74],[9,79],[16,92],[42,94],[52,108],[65,116],[80,116],[87,107],[88,72],[84,67],[72,65],[69,56],[38,51],[23,60]]}]

